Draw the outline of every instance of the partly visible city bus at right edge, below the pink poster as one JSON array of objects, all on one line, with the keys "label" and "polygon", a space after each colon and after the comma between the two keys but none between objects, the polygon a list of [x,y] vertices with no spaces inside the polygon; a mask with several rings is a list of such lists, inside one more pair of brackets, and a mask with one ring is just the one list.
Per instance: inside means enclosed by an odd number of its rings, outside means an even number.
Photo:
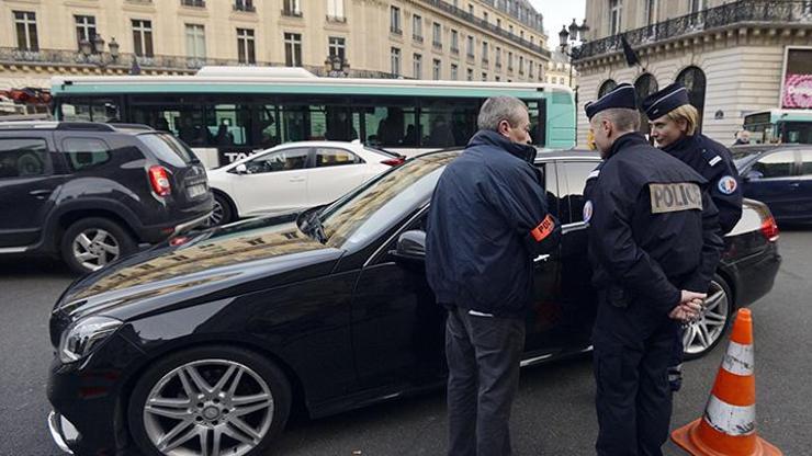
[{"label": "partly visible city bus at right edge, below the pink poster", "polygon": [[766,110],[744,116],[754,144],[812,144],[812,110]]}]

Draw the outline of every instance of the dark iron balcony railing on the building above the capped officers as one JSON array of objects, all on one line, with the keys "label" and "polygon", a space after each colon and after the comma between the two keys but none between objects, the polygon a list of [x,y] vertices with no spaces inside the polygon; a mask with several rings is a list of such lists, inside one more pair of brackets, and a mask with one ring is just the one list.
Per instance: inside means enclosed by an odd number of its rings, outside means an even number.
[{"label": "dark iron balcony railing on the building above the capped officers", "polygon": [[[624,34],[630,45],[642,46],[692,33],[745,23],[812,24],[812,1],[740,0],[635,29]],[[612,35],[584,43],[573,49],[573,59],[582,60],[594,56],[621,52],[623,47],[620,36]]]}]

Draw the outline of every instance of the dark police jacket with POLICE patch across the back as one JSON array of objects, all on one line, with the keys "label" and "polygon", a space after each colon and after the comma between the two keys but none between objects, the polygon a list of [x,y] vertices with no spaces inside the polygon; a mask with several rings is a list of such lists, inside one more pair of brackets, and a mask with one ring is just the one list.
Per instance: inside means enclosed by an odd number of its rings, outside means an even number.
[{"label": "dark police jacket with POLICE patch across the back", "polygon": [[594,284],[609,304],[667,316],[680,289],[708,289],[723,243],[706,184],[642,135],[618,138],[585,209]]}]

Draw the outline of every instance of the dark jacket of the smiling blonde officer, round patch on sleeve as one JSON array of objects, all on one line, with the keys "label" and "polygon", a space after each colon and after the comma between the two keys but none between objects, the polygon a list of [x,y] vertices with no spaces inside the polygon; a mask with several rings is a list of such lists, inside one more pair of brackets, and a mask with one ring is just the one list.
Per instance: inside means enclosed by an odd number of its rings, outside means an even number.
[{"label": "dark jacket of the smiling blonde officer, round patch on sleeve", "polygon": [[693,135],[669,144],[663,150],[708,181],[708,191],[719,209],[722,233],[730,232],[742,218],[742,186],[728,148],[704,135]]}]

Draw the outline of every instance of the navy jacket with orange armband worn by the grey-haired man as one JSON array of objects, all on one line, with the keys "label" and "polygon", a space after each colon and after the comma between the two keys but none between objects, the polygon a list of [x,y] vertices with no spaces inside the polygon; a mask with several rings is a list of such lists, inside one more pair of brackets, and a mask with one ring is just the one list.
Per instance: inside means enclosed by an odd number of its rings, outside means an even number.
[{"label": "navy jacket with orange armband worn by the grey-haired man", "polygon": [[438,303],[523,317],[533,258],[560,232],[535,148],[478,132],[440,176],[429,209],[426,273]]}]

